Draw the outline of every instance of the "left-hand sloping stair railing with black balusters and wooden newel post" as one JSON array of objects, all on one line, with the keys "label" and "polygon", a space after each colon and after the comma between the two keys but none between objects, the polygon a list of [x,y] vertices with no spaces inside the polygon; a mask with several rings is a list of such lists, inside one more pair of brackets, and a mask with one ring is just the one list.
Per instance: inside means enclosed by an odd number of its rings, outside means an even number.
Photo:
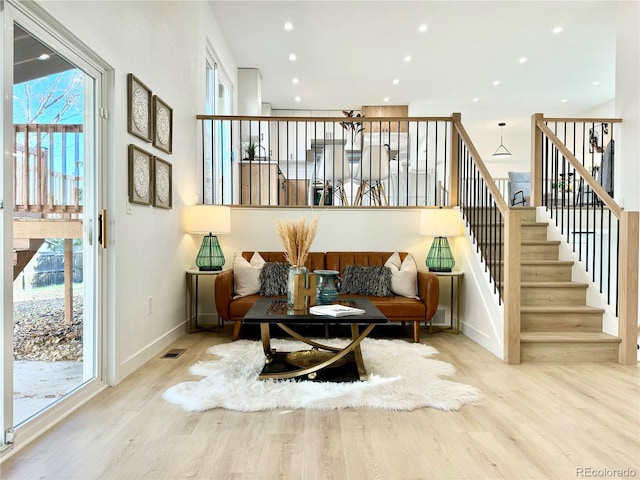
[{"label": "left-hand sloping stair railing with black balusters and wooden newel post", "polygon": [[458,204],[498,303],[504,304],[503,356],[520,363],[520,256],[522,215],[505,202],[460,114],[453,115],[451,204]]}]

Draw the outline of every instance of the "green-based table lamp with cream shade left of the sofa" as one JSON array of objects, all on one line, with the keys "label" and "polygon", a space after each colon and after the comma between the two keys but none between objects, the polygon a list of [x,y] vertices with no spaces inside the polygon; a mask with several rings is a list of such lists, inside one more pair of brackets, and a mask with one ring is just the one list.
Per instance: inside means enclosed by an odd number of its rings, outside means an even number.
[{"label": "green-based table lamp with cream shade left of the sofa", "polygon": [[215,234],[231,232],[231,211],[223,205],[192,205],[189,207],[187,231],[204,235],[196,257],[201,271],[218,271],[224,266],[224,254]]}]

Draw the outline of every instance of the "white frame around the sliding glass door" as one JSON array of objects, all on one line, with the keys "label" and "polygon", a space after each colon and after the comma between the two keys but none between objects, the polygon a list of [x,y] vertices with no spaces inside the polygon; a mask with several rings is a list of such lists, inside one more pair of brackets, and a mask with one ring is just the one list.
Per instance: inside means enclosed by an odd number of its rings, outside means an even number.
[{"label": "white frame around the sliding glass door", "polygon": [[[86,262],[89,273],[93,277],[93,301],[90,302],[90,311],[96,317],[95,343],[93,345],[93,357],[95,372],[85,372],[87,375],[95,373],[92,379],[84,383],[76,391],[67,395],[60,402],[44,410],[36,417],[21,425],[16,432],[11,430],[13,425],[13,273],[11,262],[5,259],[12,258],[13,249],[13,189],[12,173],[12,135],[13,135],[13,108],[11,89],[13,81],[3,81],[3,118],[2,138],[0,146],[3,151],[2,194],[4,198],[1,210],[2,223],[0,224],[0,247],[2,252],[2,276],[3,286],[0,292],[0,307],[3,313],[3,335],[0,345],[0,363],[2,365],[3,381],[0,382],[0,461],[11,453],[26,445],[32,439],[59,422],[79,405],[85,403],[105,386],[107,365],[107,266],[110,263],[107,256],[108,250],[103,249],[98,242],[98,215],[102,208],[106,208],[107,198],[107,172],[110,171],[109,163],[112,158],[108,150],[108,135],[112,135],[108,125],[108,111],[111,105],[111,93],[113,92],[113,71],[106,62],[96,56],[85,45],[79,44],[62,25],[48,15],[42,7],[34,3],[20,3],[16,0],[6,0],[0,7],[2,15],[2,78],[13,78],[13,24],[18,22],[30,33],[43,40],[54,40],[55,50],[67,57],[73,64],[85,71],[95,81],[94,97],[92,99],[92,122],[95,128],[93,139],[93,161],[85,162],[85,190],[90,187],[95,195],[91,199],[85,197],[83,208],[83,229],[85,241],[91,242],[95,247],[92,262]],[[85,103],[87,105],[87,103]],[[92,133],[93,133],[92,132]],[[85,142],[89,144],[89,141]],[[106,246],[106,244],[105,244]],[[88,260],[88,259],[87,259]],[[13,448],[11,448],[13,447]],[[2,451],[4,450],[4,452]]]}]

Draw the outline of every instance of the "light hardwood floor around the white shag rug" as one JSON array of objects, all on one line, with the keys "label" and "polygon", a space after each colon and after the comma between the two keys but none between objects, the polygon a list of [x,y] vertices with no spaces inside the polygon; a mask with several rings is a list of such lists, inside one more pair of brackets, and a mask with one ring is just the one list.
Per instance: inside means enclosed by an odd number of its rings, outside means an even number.
[{"label": "light hardwood floor around the white shag rug", "polygon": [[171,346],[187,349],[180,358],[154,359],[107,389],[0,465],[0,477],[572,479],[623,469],[640,477],[638,367],[509,366],[464,336],[423,336],[482,402],[457,412],[187,413],[162,392],[193,379],[188,367],[229,338],[185,335]]}]

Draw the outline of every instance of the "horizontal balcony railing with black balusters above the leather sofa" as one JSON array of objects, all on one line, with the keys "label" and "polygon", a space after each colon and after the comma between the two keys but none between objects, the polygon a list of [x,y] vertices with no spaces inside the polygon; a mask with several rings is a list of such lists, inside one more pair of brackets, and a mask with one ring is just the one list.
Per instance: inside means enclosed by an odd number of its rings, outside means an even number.
[{"label": "horizontal balcony railing with black balusters above the leather sofa", "polygon": [[198,119],[205,203],[447,203],[451,117],[199,115]]}]

